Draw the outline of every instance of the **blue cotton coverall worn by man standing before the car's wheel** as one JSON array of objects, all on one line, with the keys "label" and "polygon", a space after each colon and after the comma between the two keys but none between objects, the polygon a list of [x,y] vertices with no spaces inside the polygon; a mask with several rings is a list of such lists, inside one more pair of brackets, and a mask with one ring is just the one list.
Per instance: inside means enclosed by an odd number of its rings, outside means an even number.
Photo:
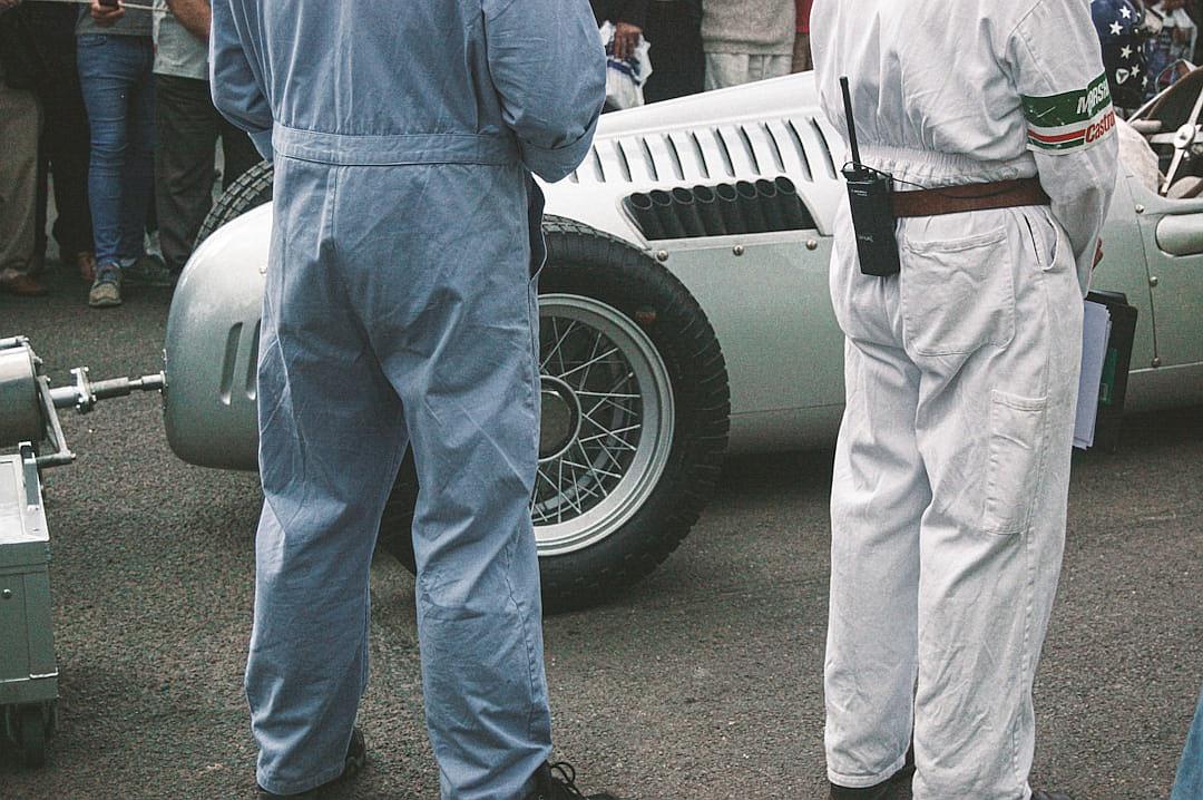
[{"label": "blue cotton coverall worn by man standing before the car's wheel", "polygon": [[338,776],[368,675],[368,568],[405,445],[443,798],[512,799],[551,749],[528,500],[541,195],[586,155],[585,0],[214,0],[218,108],[274,152],[259,354],[257,778]]}]

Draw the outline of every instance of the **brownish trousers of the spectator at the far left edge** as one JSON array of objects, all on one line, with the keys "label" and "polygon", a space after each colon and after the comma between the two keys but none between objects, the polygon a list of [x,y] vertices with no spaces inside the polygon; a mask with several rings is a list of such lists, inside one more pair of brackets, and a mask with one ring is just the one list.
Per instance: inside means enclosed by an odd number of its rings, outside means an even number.
[{"label": "brownish trousers of the spectator at the far left edge", "polygon": [[41,108],[32,91],[0,79],[0,275],[29,271],[37,219],[37,136]]}]

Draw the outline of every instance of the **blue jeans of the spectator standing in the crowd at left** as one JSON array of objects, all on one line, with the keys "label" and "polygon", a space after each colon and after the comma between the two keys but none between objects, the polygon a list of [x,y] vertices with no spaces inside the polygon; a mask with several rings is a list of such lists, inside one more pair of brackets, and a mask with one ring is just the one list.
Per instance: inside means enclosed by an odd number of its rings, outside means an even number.
[{"label": "blue jeans of the spectator standing in the crowd at left", "polygon": [[82,34],[76,53],[91,128],[96,263],[117,263],[143,254],[154,180],[154,47],[149,36]]}]

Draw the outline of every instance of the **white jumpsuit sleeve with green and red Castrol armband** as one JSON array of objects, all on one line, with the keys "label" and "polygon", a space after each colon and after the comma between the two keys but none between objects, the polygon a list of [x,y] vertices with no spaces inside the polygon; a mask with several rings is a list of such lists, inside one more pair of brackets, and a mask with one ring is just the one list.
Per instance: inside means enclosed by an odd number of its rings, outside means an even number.
[{"label": "white jumpsuit sleeve with green and red Castrol armband", "polygon": [[1073,245],[1083,292],[1119,170],[1107,77],[1085,0],[1042,0],[1012,37],[1027,147]]}]

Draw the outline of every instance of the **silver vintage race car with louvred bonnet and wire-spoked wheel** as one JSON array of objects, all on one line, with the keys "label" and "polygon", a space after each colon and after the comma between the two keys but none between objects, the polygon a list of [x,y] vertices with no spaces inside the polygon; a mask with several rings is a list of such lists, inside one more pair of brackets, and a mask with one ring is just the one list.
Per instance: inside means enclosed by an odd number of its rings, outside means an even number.
[{"label": "silver vintage race car with louvred bonnet and wire-spoked wheel", "polygon": [[[1201,88],[1192,73],[1138,114],[1156,177],[1122,171],[1094,279],[1138,309],[1130,409],[1203,401]],[[725,454],[834,440],[843,152],[799,75],[608,114],[581,167],[545,188],[531,514],[550,608],[595,603],[663,562]],[[267,164],[231,186],[176,290],[166,423],[195,464],[256,467],[269,197]],[[417,490],[407,463],[380,534],[410,567]]]}]

